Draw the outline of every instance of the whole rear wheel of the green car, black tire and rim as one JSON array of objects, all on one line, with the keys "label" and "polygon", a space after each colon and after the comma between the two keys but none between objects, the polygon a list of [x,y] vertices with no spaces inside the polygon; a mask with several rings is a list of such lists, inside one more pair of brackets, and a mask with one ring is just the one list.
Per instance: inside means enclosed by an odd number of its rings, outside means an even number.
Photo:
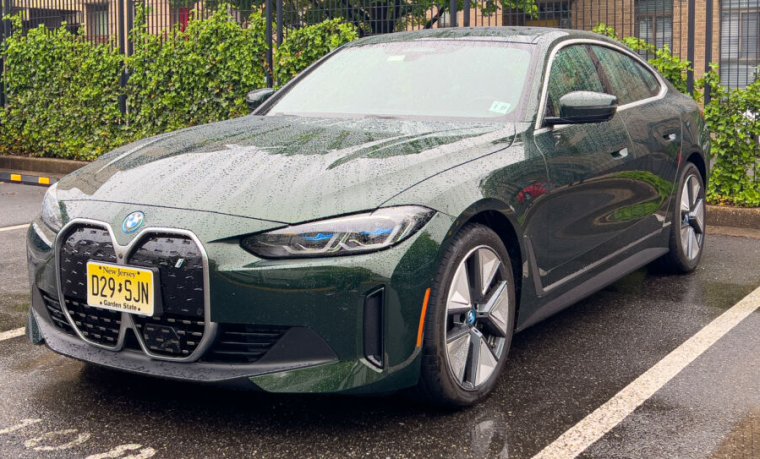
[{"label": "whole rear wheel of the green car, black tire and rim", "polygon": [[702,259],[707,223],[705,181],[693,163],[686,163],[678,176],[671,222],[670,251],[657,260],[656,267],[666,274],[690,273]]}]

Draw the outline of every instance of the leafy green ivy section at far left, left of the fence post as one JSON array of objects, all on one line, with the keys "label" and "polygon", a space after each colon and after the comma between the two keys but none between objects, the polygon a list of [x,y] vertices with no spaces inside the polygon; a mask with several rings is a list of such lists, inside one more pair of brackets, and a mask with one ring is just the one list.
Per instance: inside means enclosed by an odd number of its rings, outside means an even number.
[{"label": "leafy green ivy section at far left, left of the fence post", "polygon": [[93,159],[125,140],[122,57],[66,27],[21,30],[5,42],[0,153]]}]

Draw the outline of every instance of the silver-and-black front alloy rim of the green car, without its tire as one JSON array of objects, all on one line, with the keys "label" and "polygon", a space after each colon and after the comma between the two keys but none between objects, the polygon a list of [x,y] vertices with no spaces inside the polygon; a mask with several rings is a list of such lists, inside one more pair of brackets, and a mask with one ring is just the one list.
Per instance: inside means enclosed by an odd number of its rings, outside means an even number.
[{"label": "silver-and-black front alloy rim of the green car, without its tire", "polygon": [[446,300],[446,358],[454,380],[465,390],[486,383],[506,354],[512,317],[501,257],[491,247],[475,247],[457,267]]}]

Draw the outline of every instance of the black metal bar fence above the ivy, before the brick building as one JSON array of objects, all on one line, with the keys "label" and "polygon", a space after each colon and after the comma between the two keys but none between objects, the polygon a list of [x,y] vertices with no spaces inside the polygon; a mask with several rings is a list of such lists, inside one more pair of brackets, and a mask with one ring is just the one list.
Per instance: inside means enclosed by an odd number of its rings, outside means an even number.
[{"label": "black metal bar fence above the ivy, before the brick building", "polygon": [[[159,35],[220,7],[240,23],[263,11],[270,50],[289,30],[330,18],[354,23],[365,36],[506,25],[592,30],[606,24],[620,36],[667,45],[691,61],[690,89],[710,63],[720,64],[722,81],[732,88],[754,81],[760,65],[760,0],[0,0],[2,15],[21,15],[24,30],[65,25],[126,54],[138,3],[147,8],[148,30]],[[11,32],[3,21],[0,41]]]}]

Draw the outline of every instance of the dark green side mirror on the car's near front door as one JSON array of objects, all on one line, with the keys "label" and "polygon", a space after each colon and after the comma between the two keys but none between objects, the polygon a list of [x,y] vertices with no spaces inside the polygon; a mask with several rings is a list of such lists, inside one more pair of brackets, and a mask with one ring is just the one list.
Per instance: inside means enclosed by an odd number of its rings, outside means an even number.
[{"label": "dark green side mirror on the car's near front door", "polygon": [[609,121],[617,111],[617,97],[601,92],[575,91],[559,99],[559,117],[547,117],[546,124],[584,124]]}]

